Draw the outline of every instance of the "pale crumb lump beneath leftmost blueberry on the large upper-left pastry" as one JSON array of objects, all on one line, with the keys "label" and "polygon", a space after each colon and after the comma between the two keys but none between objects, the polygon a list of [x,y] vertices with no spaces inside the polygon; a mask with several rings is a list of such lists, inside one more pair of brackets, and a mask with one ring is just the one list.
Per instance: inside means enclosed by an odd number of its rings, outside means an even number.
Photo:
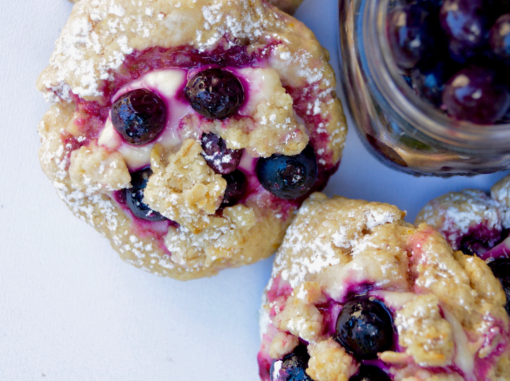
[{"label": "pale crumb lump beneath leftmost blueberry on the large upper-left pastry", "polygon": [[72,186],[87,196],[130,187],[131,175],[122,155],[92,143],[71,152]]}]

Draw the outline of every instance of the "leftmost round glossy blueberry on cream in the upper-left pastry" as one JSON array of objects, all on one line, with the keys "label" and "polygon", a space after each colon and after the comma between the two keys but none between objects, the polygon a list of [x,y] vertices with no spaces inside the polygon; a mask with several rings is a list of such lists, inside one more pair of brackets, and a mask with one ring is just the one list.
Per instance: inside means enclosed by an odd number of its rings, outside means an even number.
[{"label": "leftmost round glossy blueberry on cream in the upper-left pastry", "polygon": [[165,128],[166,106],[147,89],[124,93],[112,105],[112,124],[129,144],[142,145],[156,139]]}]

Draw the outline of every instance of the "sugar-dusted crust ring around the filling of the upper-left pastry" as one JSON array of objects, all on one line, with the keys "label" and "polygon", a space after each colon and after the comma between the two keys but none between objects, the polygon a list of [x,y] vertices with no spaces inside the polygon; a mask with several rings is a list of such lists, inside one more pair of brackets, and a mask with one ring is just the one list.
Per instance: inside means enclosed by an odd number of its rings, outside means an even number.
[{"label": "sugar-dusted crust ring around the filling of the upper-left pastry", "polygon": [[[130,213],[124,212],[111,195],[87,195],[77,190],[68,175],[71,152],[81,145],[94,144],[95,135],[84,134],[78,127],[89,116],[74,102],[79,97],[80,102],[110,104],[108,91],[115,79],[125,74],[126,57],[152,47],[191,48],[197,54],[207,54],[214,49],[246,46],[248,55],[259,55],[271,65],[292,97],[293,106],[300,107],[296,113],[311,131],[319,165],[335,168],[345,141],[346,122],[335,95],[336,80],[327,63],[327,52],[306,26],[262,0],[143,0],[141,4],[138,0],[81,0],[74,5],[50,64],[38,80],[39,90],[54,102],[39,128],[43,140],[41,166],[69,208],[107,236],[125,261],[138,267],[159,275],[192,279],[266,258],[281,242],[294,210],[270,205],[267,192],[248,197],[246,210],[232,210],[232,215],[244,213],[247,225],[235,226],[232,219],[215,220],[210,226],[200,227],[206,234],[190,237],[190,229],[185,226],[141,235]],[[281,108],[287,114],[289,94],[283,92],[279,97],[286,99]],[[92,129],[97,132],[103,122],[95,123],[98,125]],[[277,142],[283,152],[301,150],[308,139],[302,134],[303,126],[293,118],[291,127],[302,137],[295,147]],[[190,137],[196,140],[201,131],[197,136],[194,132]],[[285,134],[274,136],[286,139]],[[228,247],[206,245],[206,236],[211,236],[207,233],[215,229],[221,230]],[[235,238],[238,241],[233,242]],[[164,242],[180,251],[174,260]]]}]

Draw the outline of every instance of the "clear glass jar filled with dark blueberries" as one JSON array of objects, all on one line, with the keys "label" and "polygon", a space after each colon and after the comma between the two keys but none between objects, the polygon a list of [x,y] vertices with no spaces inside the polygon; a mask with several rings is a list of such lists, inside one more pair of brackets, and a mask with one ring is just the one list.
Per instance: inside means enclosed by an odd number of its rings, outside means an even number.
[{"label": "clear glass jar filled with dark blueberries", "polygon": [[339,0],[342,85],[361,138],[392,168],[510,168],[504,0]]}]

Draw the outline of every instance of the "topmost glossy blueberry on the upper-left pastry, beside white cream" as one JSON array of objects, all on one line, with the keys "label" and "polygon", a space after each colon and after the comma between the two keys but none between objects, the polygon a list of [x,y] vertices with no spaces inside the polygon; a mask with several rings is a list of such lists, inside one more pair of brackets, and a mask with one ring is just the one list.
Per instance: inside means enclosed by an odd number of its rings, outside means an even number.
[{"label": "topmost glossy blueberry on the upper-left pastry, beside white cream", "polygon": [[237,113],[244,99],[241,81],[230,71],[206,69],[186,85],[185,96],[198,114],[224,119]]}]

